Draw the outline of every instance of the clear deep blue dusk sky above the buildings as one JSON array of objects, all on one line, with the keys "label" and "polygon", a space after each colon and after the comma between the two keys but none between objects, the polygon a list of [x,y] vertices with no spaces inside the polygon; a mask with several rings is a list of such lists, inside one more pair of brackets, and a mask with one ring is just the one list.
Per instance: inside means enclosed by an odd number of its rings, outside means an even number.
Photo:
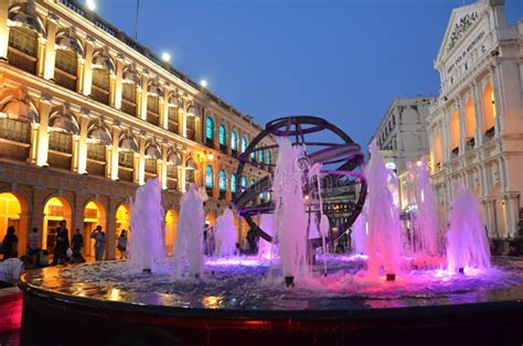
[{"label": "clear deep blue dusk sky above the buildings", "polygon": [[[136,0],[97,0],[134,35]],[[258,123],[324,117],[365,145],[394,96],[437,95],[434,69],[462,0],[142,0],[138,41]],[[471,1],[465,1],[471,3]],[[510,22],[523,1],[506,0]]]}]

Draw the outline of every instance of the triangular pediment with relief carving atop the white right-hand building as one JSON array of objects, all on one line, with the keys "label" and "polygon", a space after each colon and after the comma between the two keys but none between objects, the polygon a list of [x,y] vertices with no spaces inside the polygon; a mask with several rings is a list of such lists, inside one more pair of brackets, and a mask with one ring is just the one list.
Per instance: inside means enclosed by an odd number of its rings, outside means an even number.
[{"label": "triangular pediment with relief carving atop the white right-hand building", "polygon": [[452,10],[447,30],[445,31],[441,46],[439,47],[437,62],[445,56],[452,54],[456,46],[477,26],[481,20],[481,14],[488,4],[472,3]]}]

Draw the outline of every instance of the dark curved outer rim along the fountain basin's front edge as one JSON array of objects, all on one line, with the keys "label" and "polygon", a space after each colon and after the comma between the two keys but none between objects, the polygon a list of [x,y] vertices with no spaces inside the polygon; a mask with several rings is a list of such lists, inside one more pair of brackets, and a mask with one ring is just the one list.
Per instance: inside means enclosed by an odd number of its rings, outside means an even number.
[{"label": "dark curved outer rim along the fountain basin's front edge", "polygon": [[[56,269],[60,269],[56,268]],[[135,316],[156,316],[172,318],[203,318],[202,323],[209,323],[209,320],[259,320],[274,323],[287,323],[296,321],[350,321],[350,320],[367,320],[367,318],[391,318],[398,316],[426,317],[446,316],[456,314],[474,314],[489,312],[517,312],[523,313],[523,298],[514,298],[498,301],[467,302],[453,304],[438,305],[414,305],[397,307],[354,307],[354,309],[302,309],[302,310],[284,310],[284,309],[235,309],[235,307],[184,307],[172,305],[158,305],[147,303],[146,300],[140,301],[111,301],[102,296],[87,298],[57,292],[52,289],[44,289],[31,282],[31,272],[23,272],[19,282],[19,288],[25,299],[36,299],[49,304],[61,304],[63,306],[74,307],[83,312],[105,314],[132,314]],[[93,284],[90,284],[94,286]],[[160,293],[149,292],[151,296],[160,296]],[[282,325],[282,327],[285,326]]]}]

